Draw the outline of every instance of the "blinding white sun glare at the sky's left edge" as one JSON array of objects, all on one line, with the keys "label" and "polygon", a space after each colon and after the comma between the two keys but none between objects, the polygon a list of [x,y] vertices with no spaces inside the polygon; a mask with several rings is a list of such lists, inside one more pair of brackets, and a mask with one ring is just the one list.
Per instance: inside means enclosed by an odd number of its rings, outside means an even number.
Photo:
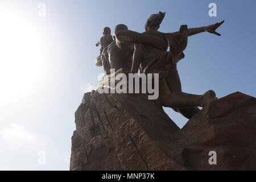
[{"label": "blinding white sun glare at the sky's left edge", "polygon": [[46,48],[32,20],[0,12],[0,102],[30,94],[44,75]]}]

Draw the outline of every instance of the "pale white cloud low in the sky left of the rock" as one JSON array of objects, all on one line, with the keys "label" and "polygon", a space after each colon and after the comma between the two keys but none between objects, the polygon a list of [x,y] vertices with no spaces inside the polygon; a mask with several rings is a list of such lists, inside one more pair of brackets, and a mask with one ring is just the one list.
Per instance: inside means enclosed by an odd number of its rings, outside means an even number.
[{"label": "pale white cloud low in the sky left of the rock", "polygon": [[[69,151],[18,123],[0,129],[0,170],[67,170]],[[40,163],[44,154],[45,163]]]}]

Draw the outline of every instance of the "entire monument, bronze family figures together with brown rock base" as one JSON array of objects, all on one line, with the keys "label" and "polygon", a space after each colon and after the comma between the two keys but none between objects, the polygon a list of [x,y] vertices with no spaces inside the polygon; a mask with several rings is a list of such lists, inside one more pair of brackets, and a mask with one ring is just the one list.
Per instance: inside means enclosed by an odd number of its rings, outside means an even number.
[{"label": "entire monument, bronze family figures together with brown rock base", "polygon": [[[163,33],[158,28],[164,16],[152,14],[143,33],[118,24],[114,40],[110,28],[104,28],[96,44],[101,44],[96,65],[106,74],[97,90],[84,94],[76,111],[71,170],[256,169],[256,98],[237,92],[218,99],[213,90],[184,93],[177,72],[188,37],[201,32],[220,36],[216,29],[224,20]],[[123,81],[127,75],[138,77],[137,84]],[[121,90],[139,87],[137,93],[99,92],[115,89],[115,76],[122,80]],[[156,100],[147,97],[149,83],[159,90]],[[188,123],[179,129],[163,106]],[[217,163],[210,154],[217,154]]]}]

